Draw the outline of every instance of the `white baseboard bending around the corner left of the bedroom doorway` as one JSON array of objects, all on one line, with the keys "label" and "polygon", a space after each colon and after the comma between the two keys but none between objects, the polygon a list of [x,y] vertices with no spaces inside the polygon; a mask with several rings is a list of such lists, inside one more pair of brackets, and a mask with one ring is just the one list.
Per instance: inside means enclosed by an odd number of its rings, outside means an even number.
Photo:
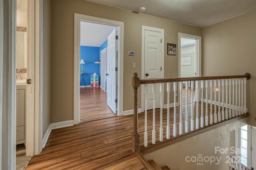
[{"label": "white baseboard bending around the corner left of the bedroom doorway", "polygon": [[50,136],[50,133],[52,131],[52,129],[59,129],[59,128],[62,128],[62,127],[68,127],[68,126],[73,126],[74,125],[74,121],[73,120],[68,120],[68,121],[62,121],[62,122],[57,122],[57,123],[51,123],[46,131],[46,133],[44,134],[44,137],[43,137],[43,141],[42,141],[42,144],[43,144],[43,147],[45,147],[46,145],[46,142]]}]

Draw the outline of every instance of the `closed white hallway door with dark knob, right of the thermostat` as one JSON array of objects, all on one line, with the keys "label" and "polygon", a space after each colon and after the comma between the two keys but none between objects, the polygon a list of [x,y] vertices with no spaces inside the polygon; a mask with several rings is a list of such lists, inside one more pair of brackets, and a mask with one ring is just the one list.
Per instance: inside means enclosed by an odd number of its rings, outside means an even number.
[{"label": "closed white hallway door with dark knob, right of the thermostat", "polygon": [[[142,79],[164,78],[164,30],[142,26]],[[148,76],[146,76],[148,74]],[[144,86],[142,86],[144,110]],[[148,85],[147,109],[153,109],[153,85]],[[155,108],[160,108],[160,84],[155,84]]]}]

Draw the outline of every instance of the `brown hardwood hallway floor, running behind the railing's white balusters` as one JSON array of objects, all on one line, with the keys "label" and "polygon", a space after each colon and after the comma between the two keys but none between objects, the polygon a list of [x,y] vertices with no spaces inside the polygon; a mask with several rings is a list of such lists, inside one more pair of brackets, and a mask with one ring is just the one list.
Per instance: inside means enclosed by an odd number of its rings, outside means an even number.
[{"label": "brown hardwood hallway floor, running behind the railing's white balusters", "polygon": [[[93,89],[90,89],[93,90]],[[85,90],[86,91],[86,90]],[[96,91],[96,90],[95,90]],[[90,91],[93,92],[93,91]],[[89,93],[89,92],[88,92]],[[104,92],[91,93],[101,96],[100,101],[104,103]],[[188,94],[188,97],[191,96]],[[84,99],[86,102],[86,99]],[[106,107],[105,107],[106,108]],[[188,106],[188,120],[190,129],[190,108]],[[214,107],[213,107],[214,108]],[[199,113],[201,104],[199,102]],[[218,107],[217,107],[218,109]],[[170,132],[172,135],[173,110],[170,108]],[[179,133],[180,107],[177,110],[177,134]],[[194,113],[196,103],[193,103]],[[98,113],[102,113],[99,110]],[[205,104],[204,104],[205,113]],[[208,104],[210,113],[210,104]],[[113,114],[113,113],[112,113]],[[163,130],[164,140],[166,140],[166,116],[167,109],[163,110]],[[182,107],[183,133],[185,121],[185,106]],[[200,114],[199,114],[200,116]],[[196,124],[196,114],[194,114],[194,126]],[[138,125],[140,131],[140,146],[143,148],[144,133],[144,113],[139,113]],[[200,122],[200,120],[199,120]],[[131,134],[133,127],[133,115],[110,116],[105,119],[95,119],[74,125],[52,130],[50,137],[40,155],[34,156],[28,166],[32,169],[144,169],[144,166],[131,149]],[[160,110],[156,110],[156,142],[159,142]],[[196,130],[196,129],[195,129]],[[151,145],[152,137],[152,110],[148,111],[148,145]],[[171,137],[172,138],[172,137]]]}]

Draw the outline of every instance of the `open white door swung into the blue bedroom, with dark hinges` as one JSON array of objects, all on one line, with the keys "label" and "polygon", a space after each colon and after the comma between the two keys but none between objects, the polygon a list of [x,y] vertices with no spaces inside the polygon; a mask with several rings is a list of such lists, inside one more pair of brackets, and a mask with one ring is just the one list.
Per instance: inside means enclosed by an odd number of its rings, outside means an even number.
[{"label": "open white door swung into the blue bedroom, with dark hinges", "polygon": [[107,100],[108,107],[116,113],[116,29],[108,36],[107,47]]}]

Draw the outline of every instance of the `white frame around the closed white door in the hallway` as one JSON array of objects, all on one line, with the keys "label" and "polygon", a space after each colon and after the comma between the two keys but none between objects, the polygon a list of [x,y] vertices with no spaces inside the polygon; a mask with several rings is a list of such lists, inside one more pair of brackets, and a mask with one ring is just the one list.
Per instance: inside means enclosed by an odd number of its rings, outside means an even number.
[{"label": "white frame around the closed white door in the hallway", "polygon": [[[145,75],[145,31],[156,31],[161,33],[162,43],[161,43],[161,50],[162,50],[162,72],[161,78],[164,78],[164,29],[162,28],[155,28],[155,27],[148,27],[141,25],[141,79],[144,79]],[[164,93],[163,93],[164,98]],[[164,104],[164,102],[163,102]],[[141,111],[144,111],[144,85],[141,86]]]}]

